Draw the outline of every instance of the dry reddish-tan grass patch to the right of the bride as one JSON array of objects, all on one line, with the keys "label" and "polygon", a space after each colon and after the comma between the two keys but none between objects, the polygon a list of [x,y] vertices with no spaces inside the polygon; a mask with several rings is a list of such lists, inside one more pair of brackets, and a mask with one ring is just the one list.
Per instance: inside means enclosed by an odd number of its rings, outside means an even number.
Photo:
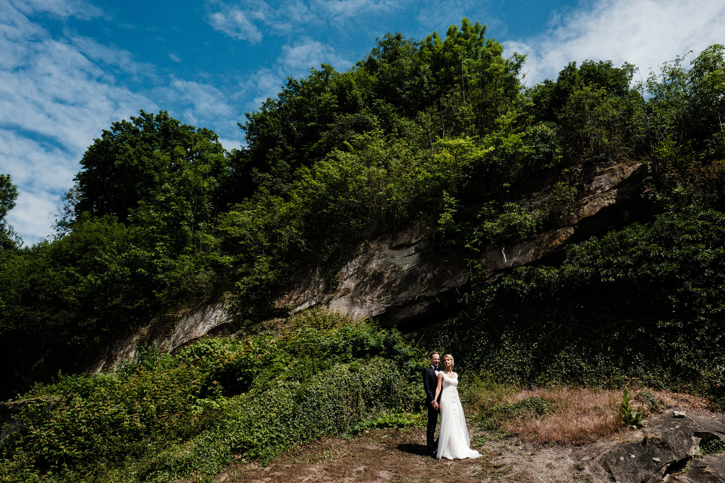
[{"label": "dry reddish-tan grass patch to the right of the bride", "polygon": [[[666,408],[705,408],[707,403],[692,395],[646,389],[661,401],[661,405],[647,403],[639,390],[631,390],[632,406],[644,414],[660,413]],[[541,444],[582,445],[595,440],[624,437],[626,429],[621,420],[619,405],[621,390],[601,390],[584,387],[540,387],[531,390],[513,390],[506,387],[471,387],[469,402],[484,414],[496,403],[515,404],[527,398],[544,398],[549,408],[543,416],[523,412],[499,422],[500,429],[516,434],[523,440]]]}]

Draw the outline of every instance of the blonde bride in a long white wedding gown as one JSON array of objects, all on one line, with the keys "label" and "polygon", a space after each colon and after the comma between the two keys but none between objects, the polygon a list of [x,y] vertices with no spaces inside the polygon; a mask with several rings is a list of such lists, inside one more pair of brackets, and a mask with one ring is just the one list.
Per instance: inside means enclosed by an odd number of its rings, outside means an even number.
[{"label": "blonde bride in a long white wedding gown", "polygon": [[458,398],[458,374],[453,372],[453,356],[443,356],[443,364],[445,369],[438,374],[438,387],[434,398],[438,400],[438,395],[441,395],[441,431],[436,459],[479,458],[481,453],[469,448],[471,440],[468,439],[465,414]]}]

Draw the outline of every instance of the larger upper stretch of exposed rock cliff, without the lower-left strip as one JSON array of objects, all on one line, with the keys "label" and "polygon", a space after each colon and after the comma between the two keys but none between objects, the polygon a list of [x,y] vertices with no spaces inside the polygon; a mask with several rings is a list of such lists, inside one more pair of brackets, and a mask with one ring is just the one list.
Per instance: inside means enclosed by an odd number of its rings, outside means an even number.
[{"label": "larger upper stretch of exposed rock cliff, without the lower-left strip", "polygon": [[[530,264],[560,251],[576,238],[605,228],[583,224],[605,209],[624,206],[637,195],[644,165],[616,164],[589,176],[577,187],[578,201],[557,218],[559,227],[532,240],[518,240],[491,247],[479,254],[486,277],[493,282],[508,269]],[[534,210],[547,201],[545,190],[520,202]],[[392,235],[372,240],[340,271],[339,284],[329,287],[317,273],[291,284],[277,301],[291,313],[312,306],[326,306],[360,319],[377,316],[390,324],[405,324],[442,306],[471,280],[472,267],[460,253],[439,253],[425,236],[420,222],[403,227]],[[467,253],[469,259],[475,253]]]}]

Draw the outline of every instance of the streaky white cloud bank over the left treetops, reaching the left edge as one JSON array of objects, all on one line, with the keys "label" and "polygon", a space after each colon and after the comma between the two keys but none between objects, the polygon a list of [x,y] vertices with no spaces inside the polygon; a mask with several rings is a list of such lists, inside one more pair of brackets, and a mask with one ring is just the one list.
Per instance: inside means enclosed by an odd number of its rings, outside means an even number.
[{"label": "streaky white cloud bank over the left treetops, reaching the left edge", "polygon": [[[74,31],[54,38],[28,17],[87,18],[100,14],[96,10],[80,1],[0,0],[0,172],[18,185],[8,221],[25,243],[51,235],[50,214],[94,138],[139,109],[154,112],[162,102],[183,122],[221,129],[226,144],[240,144],[233,137],[241,136],[241,119],[217,88],[159,76],[130,52]],[[165,87],[142,94],[131,88],[135,80]]]}]

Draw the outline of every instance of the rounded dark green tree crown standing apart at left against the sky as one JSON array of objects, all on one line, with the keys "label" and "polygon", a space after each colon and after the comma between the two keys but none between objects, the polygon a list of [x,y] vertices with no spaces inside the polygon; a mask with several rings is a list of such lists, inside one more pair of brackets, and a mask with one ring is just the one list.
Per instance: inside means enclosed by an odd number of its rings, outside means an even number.
[{"label": "rounded dark green tree crown standing apart at left against the sky", "polygon": [[[216,184],[225,172],[225,151],[218,136],[205,128],[183,125],[167,112],[141,111],[130,121],[114,122],[80,160],[75,177],[75,216],[113,215],[128,222],[139,203],[153,203],[170,186],[202,219],[215,210]],[[213,179],[214,189],[201,180]],[[194,219],[199,222],[200,219]]]}]

